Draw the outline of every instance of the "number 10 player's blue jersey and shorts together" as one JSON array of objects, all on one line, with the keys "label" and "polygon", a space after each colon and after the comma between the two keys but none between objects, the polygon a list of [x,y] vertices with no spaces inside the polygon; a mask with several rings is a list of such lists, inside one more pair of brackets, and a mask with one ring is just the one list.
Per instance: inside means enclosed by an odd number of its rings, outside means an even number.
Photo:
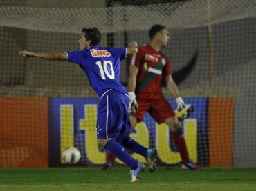
[{"label": "number 10 player's blue jersey and shorts together", "polygon": [[126,53],[127,48],[101,46],[66,52],[68,62],[79,64],[101,97],[97,117],[98,139],[115,138],[120,133],[131,131],[129,95],[120,82],[120,61],[125,59]]}]

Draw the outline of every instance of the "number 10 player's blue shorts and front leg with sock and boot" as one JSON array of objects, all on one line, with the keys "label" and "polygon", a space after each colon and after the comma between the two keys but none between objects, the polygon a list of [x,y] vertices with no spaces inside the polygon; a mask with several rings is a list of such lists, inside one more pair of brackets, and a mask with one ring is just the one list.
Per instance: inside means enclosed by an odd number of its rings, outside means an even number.
[{"label": "number 10 player's blue shorts and front leg with sock and boot", "polygon": [[128,104],[129,97],[118,91],[111,90],[104,94],[98,105],[97,138],[98,145],[113,153],[131,168],[131,181],[138,181],[145,166],[131,157],[122,145],[115,141],[121,133],[131,131],[130,125],[123,125],[127,119],[129,121]]}]

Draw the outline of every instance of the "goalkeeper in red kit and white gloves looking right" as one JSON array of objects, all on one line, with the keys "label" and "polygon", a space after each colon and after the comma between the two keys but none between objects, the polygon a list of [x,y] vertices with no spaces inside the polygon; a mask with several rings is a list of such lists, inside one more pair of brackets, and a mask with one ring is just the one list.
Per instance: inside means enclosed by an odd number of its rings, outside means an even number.
[{"label": "goalkeeper in red kit and white gloves looking right", "polygon": [[[172,79],[169,59],[161,52],[161,48],[167,46],[170,41],[169,32],[165,26],[155,25],[149,30],[150,43],[138,48],[137,54],[132,55],[129,61],[128,91],[130,96],[129,114],[131,128],[136,123],[143,121],[145,112],[154,118],[157,123],[165,123],[172,131],[172,139],[182,159],[183,169],[201,170],[201,165],[196,165],[190,160],[187,145],[181,130],[181,123],[167,102],[161,90],[161,78],[165,79],[167,89],[178,104],[177,110],[186,117],[185,103],[179,94],[176,83]],[[107,163],[103,169],[111,168],[114,160],[109,153]],[[154,170],[151,170],[154,172]]]}]

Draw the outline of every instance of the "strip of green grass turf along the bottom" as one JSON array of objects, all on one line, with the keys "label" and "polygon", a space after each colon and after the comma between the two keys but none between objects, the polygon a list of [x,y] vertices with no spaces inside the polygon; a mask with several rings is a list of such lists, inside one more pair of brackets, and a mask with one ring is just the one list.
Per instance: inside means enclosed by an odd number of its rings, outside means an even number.
[{"label": "strip of green grass turf along the bottom", "polygon": [[0,190],[256,190],[256,168],[146,168],[130,183],[129,168],[1,168]]}]

